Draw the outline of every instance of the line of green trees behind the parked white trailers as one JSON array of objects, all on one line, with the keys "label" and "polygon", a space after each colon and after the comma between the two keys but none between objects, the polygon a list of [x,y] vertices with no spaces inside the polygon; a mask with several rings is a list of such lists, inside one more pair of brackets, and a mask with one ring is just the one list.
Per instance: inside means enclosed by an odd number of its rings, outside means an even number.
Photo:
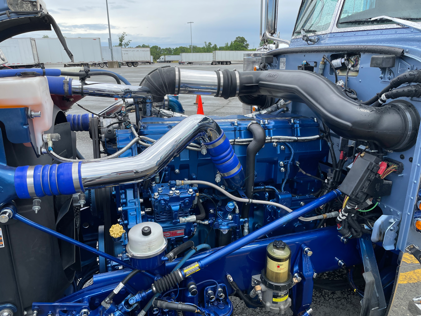
[{"label": "line of green trees behind the parked white trailers", "polygon": [[[126,33],[123,32],[119,37],[118,46],[122,47],[130,47],[131,40],[126,40]],[[232,40],[231,43],[225,43],[224,46],[218,46],[216,44],[212,44],[211,42],[205,42],[203,46],[193,45],[193,53],[212,53],[213,51],[253,51],[254,49],[249,49],[250,44],[247,43],[247,40],[242,36],[237,36],[235,40]],[[179,55],[181,53],[191,53],[192,46],[179,46],[176,48],[166,47],[161,48],[157,45],[150,46],[147,44],[142,44],[136,46],[136,48],[146,48],[149,47],[151,49],[151,55],[153,56],[154,60],[160,58],[163,55]]]}]

